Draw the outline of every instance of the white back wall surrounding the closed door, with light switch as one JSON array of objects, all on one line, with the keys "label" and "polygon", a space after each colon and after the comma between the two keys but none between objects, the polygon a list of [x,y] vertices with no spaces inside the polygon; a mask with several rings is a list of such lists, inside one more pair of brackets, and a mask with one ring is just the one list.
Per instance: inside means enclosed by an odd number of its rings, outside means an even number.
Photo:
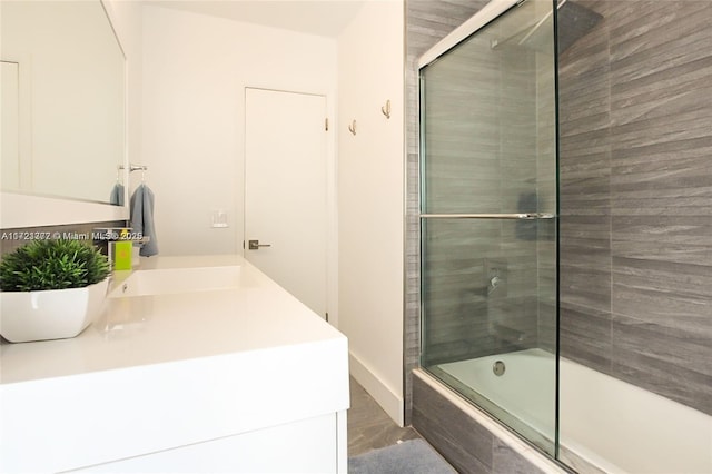
[{"label": "white back wall surrounding the closed door, with light switch", "polygon": [[[147,6],[142,71],[160,254],[241,253],[245,87],[326,95],[333,117],[336,41]],[[216,209],[228,228],[210,227]]]}]

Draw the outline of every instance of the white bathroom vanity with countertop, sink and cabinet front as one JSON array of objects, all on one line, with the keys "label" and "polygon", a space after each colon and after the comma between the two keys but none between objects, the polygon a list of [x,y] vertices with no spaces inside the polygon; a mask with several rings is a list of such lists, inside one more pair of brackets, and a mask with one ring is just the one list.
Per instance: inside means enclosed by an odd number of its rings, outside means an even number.
[{"label": "white bathroom vanity with countertop, sink and cabinet front", "polygon": [[142,258],[0,346],[0,472],[346,472],[347,339],[238,256]]}]

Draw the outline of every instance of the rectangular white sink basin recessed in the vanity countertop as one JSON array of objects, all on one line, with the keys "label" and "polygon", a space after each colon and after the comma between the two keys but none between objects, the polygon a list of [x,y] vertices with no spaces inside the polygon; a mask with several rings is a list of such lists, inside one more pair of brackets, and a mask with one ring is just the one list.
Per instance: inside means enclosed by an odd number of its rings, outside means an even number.
[{"label": "rectangular white sink basin recessed in the vanity countertop", "polygon": [[240,267],[200,267],[137,270],[117,283],[109,298],[206,292],[240,286]]}]

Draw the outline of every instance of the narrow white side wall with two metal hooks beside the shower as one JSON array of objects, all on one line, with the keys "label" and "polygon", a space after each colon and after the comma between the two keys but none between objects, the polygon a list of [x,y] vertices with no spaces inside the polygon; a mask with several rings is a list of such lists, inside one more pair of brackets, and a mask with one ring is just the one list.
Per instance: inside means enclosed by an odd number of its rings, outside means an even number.
[{"label": "narrow white side wall with two metal hooks beside the shower", "polygon": [[[350,371],[403,425],[403,1],[367,1],[338,38],[339,325]],[[380,107],[390,99],[390,119]],[[356,136],[347,125],[356,119]]]}]

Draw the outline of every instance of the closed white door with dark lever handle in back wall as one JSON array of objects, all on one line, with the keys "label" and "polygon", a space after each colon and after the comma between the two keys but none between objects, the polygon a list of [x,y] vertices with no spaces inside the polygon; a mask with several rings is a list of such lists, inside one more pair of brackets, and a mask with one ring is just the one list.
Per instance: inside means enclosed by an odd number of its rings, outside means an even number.
[{"label": "closed white door with dark lever handle in back wall", "polygon": [[326,97],[247,88],[245,113],[245,258],[325,317]]}]

